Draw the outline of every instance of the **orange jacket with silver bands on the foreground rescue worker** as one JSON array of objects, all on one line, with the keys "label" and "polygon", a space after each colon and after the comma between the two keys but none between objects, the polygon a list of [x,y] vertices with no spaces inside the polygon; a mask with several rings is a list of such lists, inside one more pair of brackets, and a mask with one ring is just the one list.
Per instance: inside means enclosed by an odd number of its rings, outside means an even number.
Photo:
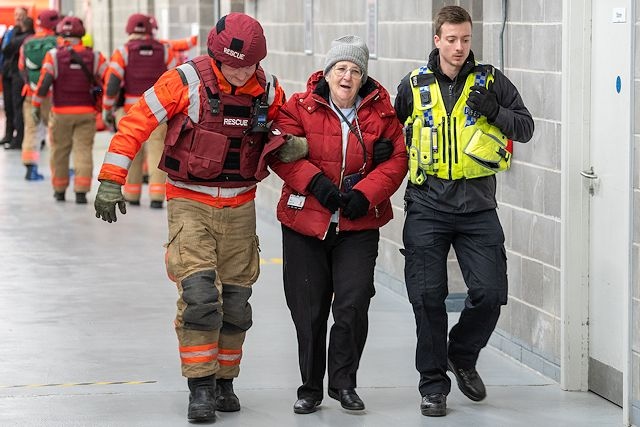
[{"label": "orange jacket with silver bands on the foreground rescue worker", "polygon": [[[264,88],[258,83],[255,74],[244,86],[234,87],[227,82],[213,60],[210,60],[210,65],[218,79],[220,92],[252,97],[264,94]],[[192,84],[189,84],[187,79],[183,80],[185,75],[193,76],[194,73],[195,70],[190,64],[183,64],[176,69],[165,72],[153,87],[147,90],[140,100],[131,107],[118,124],[118,131],[111,140],[98,180],[124,184],[133,158],[158,124],[165,123],[180,113],[194,118],[194,121],[200,121],[200,86],[202,82],[199,78],[193,79],[194,83]],[[279,84],[276,84],[275,99],[269,105],[268,110],[269,121],[275,118],[285,100],[284,90]],[[220,198],[226,198],[224,193],[216,196],[210,190],[200,188],[201,186],[178,184],[174,185],[167,181],[167,200],[182,197],[217,206]],[[233,194],[233,196],[237,195]]]}]

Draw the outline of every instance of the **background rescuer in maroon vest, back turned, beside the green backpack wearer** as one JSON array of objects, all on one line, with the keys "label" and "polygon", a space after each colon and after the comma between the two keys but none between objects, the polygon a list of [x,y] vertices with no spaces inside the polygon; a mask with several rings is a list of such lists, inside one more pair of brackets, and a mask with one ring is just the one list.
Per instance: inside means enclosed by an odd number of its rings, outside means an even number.
[{"label": "background rescuer in maroon vest, back turned, beside the green backpack wearer", "polygon": [[54,198],[64,202],[69,186],[69,158],[73,151],[73,187],[76,203],[86,204],[93,175],[93,138],[96,109],[102,101],[102,84],[107,69],[104,56],[82,45],[82,20],[66,16],[56,26],[61,45],[47,52],[40,80],[31,103],[33,118],[40,121],[41,106],[53,87],[51,107],[51,182]]}]

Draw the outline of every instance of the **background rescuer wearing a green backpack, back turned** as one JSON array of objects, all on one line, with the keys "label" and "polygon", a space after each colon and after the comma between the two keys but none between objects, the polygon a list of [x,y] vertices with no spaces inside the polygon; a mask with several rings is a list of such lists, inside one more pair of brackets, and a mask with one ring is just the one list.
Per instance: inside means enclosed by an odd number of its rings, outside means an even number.
[{"label": "background rescuer wearing a green backpack, back turned", "polygon": [[[57,46],[55,35],[56,25],[60,21],[57,10],[44,9],[38,15],[38,29],[36,33],[25,40],[20,48],[20,62],[18,67],[25,81],[23,93],[25,94],[23,108],[24,116],[24,140],[22,141],[22,163],[27,168],[25,179],[39,181],[43,176],[38,172],[40,161],[40,138],[38,124],[33,120],[33,106],[31,100],[40,79],[42,61],[46,53]],[[51,91],[42,98],[40,113],[42,121],[49,125],[49,112],[51,110]]]}]

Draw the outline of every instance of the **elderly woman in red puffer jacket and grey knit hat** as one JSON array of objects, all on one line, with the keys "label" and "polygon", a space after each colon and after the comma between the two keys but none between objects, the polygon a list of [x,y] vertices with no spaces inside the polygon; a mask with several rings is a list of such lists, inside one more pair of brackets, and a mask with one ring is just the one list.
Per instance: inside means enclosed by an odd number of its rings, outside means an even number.
[{"label": "elderly woman in red puffer jacket and grey knit hat", "polygon": [[[315,412],[327,365],[330,397],[363,410],[356,373],[375,294],[379,228],[407,173],[402,126],[388,92],[367,76],[369,50],[357,36],[333,41],[324,71],[311,75],[272,126],[272,138],[308,143],[298,161],[274,160],[284,180],[284,290],[298,337],[302,385],[294,412]],[[333,301],[333,304],[332,304]],[[327,320],[333,311],[329,350]]]}]

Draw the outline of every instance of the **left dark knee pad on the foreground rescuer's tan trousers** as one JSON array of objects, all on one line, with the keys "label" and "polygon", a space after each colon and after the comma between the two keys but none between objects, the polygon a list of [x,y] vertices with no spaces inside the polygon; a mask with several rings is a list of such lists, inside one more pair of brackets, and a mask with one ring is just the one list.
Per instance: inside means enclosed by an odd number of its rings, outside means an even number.
[{"label": "left dark knee pad on the foreground rescuer's tan trousers", "polygon": [[200,271],[182,280],[182,299],[187,304],[182,315],[185,329],[213,331],[222,326],[215,283],[215,271]]}]

